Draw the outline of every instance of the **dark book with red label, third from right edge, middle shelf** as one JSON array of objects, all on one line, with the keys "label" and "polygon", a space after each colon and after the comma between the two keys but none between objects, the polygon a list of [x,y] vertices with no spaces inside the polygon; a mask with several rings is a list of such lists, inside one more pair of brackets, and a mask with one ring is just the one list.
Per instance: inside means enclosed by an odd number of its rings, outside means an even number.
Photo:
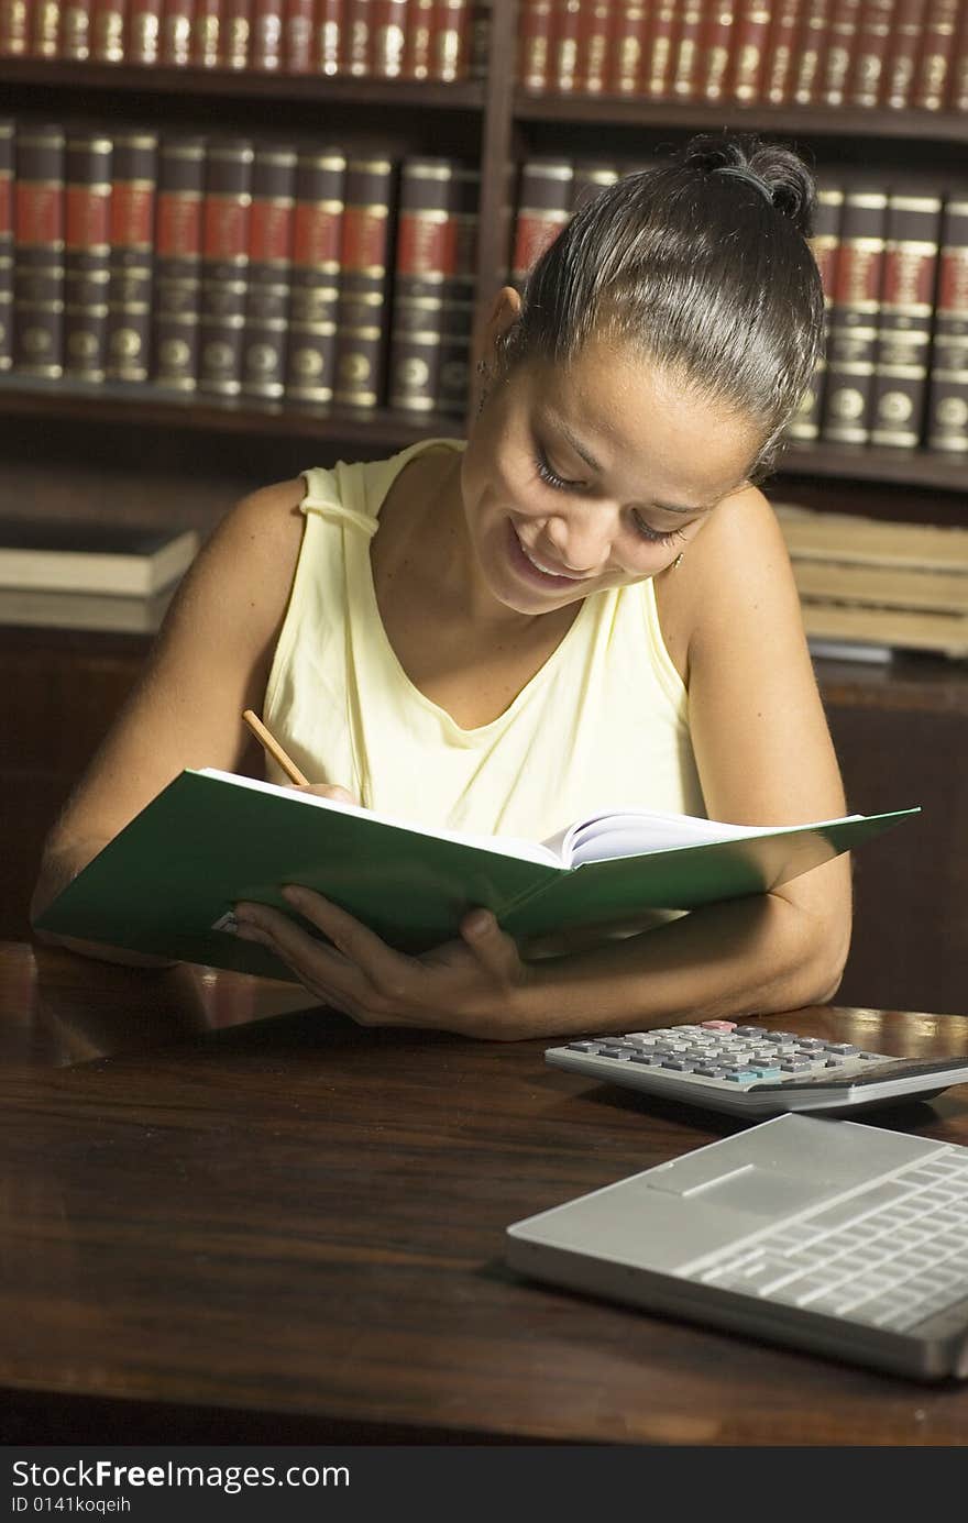
[{"label": "dark book with red label, third from right edge, middle shelf", "polygon": [[851,186],[845,193],[837,285],[831,309],[831,347],[820,437],[864,445],[884,265],[887,193]]}]

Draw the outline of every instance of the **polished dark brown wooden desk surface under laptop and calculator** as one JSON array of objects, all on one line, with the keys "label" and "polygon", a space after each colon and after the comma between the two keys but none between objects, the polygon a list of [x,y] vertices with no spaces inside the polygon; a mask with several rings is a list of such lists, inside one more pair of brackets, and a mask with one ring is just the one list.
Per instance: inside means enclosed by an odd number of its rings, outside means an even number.
[{"label": "polished dark brown wooden desk surface under laptop and calculator", "polygon": [[[921,1386],[515,1276],[508,1223],[738,1129],[544,1042],[0,944],[6,1442],[962,1445]],[[968,1052],[968,1017],[765,1025]],[[881,1124],[968,1142],[968,1086]],[[864,1119],[863,1116],[860,1119]]]}]

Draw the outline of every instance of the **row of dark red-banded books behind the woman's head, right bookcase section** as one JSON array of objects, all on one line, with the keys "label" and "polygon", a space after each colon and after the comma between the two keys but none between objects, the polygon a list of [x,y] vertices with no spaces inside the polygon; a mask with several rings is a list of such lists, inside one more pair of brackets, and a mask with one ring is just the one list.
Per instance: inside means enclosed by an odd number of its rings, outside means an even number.
[{"label": "row of dark red-banded books behind the woman's head, right bookcase section", "polygon": [[[520,171],[511,280],[518,288],[614,163],[535,155]],[[826,359],[790,439],[968,452],[968,189],[857,177],[822,184],[814,251]]]}]

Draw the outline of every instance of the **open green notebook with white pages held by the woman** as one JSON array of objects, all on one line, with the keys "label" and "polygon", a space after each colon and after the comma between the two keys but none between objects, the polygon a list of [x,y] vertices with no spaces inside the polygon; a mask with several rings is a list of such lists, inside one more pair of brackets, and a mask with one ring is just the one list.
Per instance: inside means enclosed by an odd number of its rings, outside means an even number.
[{"label": "open green notebook with white pages held by the woman", "polygon": [[918,812],[758,829],[610,810],[535,842],[431,832],[232,772],[186,771],[37,924],[183,963],[291,978],[265,947],[224,929],[238,900],[294,915],[279,889],[303,883],[404,952],[451,940],[474,906],[529,938],[761,894]]}]

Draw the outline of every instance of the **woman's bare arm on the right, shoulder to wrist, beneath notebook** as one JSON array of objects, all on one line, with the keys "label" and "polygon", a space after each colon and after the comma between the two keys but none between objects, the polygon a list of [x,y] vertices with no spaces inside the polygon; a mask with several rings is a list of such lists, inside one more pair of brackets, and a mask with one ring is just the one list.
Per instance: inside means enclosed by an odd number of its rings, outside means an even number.
[{"label": "woman's bare arm on the right, shoulder to wrist, beneath notebook", "polygon": [[[803,824],[845,813],[843,784],[776,516],[755,489],[721,503],[657,588],[689,681],[689,725],[712,819]],[[521,1019],[634,1030],[831,999],[851,943],[851,864],[756,899],[710,905],[628,941],[534,967]]]}]

